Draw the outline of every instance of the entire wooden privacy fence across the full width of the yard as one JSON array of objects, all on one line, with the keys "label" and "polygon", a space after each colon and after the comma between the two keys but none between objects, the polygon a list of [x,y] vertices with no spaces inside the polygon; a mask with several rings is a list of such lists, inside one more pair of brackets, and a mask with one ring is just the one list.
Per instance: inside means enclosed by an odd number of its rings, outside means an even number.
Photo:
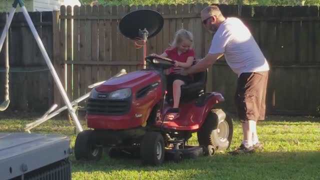
[{"label": "entire wooden privacy fence across the full width of the yard", "polygon": [[[196,57],[203,57],[212,38],[203,29],[199,16],[206,5],[75,6],[73,9],[62,6],[60,11],[30,12],[30,16],[62,83],[66,84],[68,96],[75,99],[90,90],[87,85],[105,80],[121,68],[127,71],[141,68],[136,63],[142,60],[142,49],[136,49],[118,30],[119,19],[136,9],[154,9],[164,17],[162,30],[148,39],[147,53],[163,52],[174,32],[183,27],[194,35]],[[317,114],[320,104],[317,98],[320,91],[318,7],[219,6],[225,16],[238,16],[248,25],[270,63],[268,113]],[[4,21],[2,13],[0,31]],[[63,105],[57,88],[53,90],[51,74],[22,13],[14,15],[9,49],[9,109],[44,111],[53,102]],[[2,50],[0,101],[3,100],[3,59]],[[207,90],[221,92],[225,97],[221,106],[230,111],[234,111],[235,85],[236,75],[223,58],[209,68]]]}]

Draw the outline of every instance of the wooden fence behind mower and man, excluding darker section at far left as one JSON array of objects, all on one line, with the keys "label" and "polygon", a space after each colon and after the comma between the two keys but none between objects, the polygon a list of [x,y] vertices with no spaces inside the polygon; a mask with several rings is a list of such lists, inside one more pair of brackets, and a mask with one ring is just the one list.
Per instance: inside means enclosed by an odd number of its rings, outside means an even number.
[{"label": "wooden fence behind mower and man, excluding darker section at far left", "polygon": [[[162,53],[180,28],[194,35],[196,57],[203,57],[212,34],[201,24],[207,4],[151,6],[61,6],[59,50],[55,63],[65,77],[70,98],[88,92],[87,85],[109,78],[121,68],[137,69],[142,49],[118,29],[121,17],[136,9],[153,9],[163,15],[162,30],[148,39],[147,53]],[[219,5],[226,17],[238,16],[249,27],[271,70],[267,89],[268,113],[316,114],[320,104],[320,18],[317,6]],[[252,15],[253,14],[253,15]],[[143,19],[137,19],[143,20]],[[132,22],[133,23],[133,22]],[[56,29],[58,30],[58,29]],[[66,73],[64,67],[66,64]],[[138,67],[140,68],[140,67]],[[234,111],[236,75],[222,58],[209,68],[207,90],[225,97],[222,107]],[[82,104],[83,105],[83,104]]]}]

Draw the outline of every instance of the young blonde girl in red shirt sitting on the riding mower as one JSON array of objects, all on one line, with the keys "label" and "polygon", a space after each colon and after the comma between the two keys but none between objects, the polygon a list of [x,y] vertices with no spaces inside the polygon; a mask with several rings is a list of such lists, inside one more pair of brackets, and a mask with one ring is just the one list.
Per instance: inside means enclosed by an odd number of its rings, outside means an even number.
[{"label": "young blonde girl in red shirt sitting on the riding mower", "polygon": [[[190,67],[194,59],[194,51],[192,49],[193,35],[191,32],[180,29],[175,32],[173,42],[165,51],[159,55],[161,57],[167,57],[174,60],[174,66],[178,67]],[[157,54],[151,54],[158,56]],[[168,84],[172,84],[173,88],[173,108],[179,107],[179,101],[181,96],[181,85],[189,83],[192,78],[189,75],[181,75],[173,73],[174,67],[169,69]],[[167,118],[173,120],[179,116],[178,113],[169,113]]]}]

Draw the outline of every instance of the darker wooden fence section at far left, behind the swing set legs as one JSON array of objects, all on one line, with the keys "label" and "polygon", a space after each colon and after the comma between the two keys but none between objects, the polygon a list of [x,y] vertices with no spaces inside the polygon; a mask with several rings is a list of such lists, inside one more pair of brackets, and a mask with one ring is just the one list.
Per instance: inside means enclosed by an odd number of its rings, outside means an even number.
[{"label": "darker wooden fence section at far left, behind the swing set legs", "polygon": [[[52,59],[52,12],[29,12],[29,15]],[[0,33],[4,24],[5,13],[0,13]],[[4,94],[4,49],[5,45],[0,52],[0,102]],[[53,103],[53,79],[22,12],[14,14],[9,29],[9,65],[7,110],[47,110]]]}]

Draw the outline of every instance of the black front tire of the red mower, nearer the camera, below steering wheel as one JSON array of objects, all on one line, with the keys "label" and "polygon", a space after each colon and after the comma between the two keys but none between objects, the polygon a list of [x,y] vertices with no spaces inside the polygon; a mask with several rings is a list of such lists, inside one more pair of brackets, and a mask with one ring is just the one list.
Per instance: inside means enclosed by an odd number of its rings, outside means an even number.
[{"label": "black front tire of the red mower, nearer the camera, below steering wheel", "polygon": [[164,140],[159,132],[146,132],[140,144],[143,165],[159,165],[164,160]]}]

